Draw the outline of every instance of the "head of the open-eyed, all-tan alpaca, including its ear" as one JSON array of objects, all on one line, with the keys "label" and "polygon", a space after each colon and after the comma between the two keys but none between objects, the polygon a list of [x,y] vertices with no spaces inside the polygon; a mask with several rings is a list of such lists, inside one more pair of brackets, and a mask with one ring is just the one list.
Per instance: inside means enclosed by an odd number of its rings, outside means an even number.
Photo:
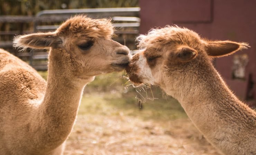
[{"label": "head of the open-eyed, all-tan alpaca, including its ear", "polygon": [[129,63],[129,49],[111,40],[113,31],[108,19],[77,15],[55,32],[21,35],[13,43],[21,50],[51,48],[49,61],[58,61],[74,76],[94,76],[121,71]]}]

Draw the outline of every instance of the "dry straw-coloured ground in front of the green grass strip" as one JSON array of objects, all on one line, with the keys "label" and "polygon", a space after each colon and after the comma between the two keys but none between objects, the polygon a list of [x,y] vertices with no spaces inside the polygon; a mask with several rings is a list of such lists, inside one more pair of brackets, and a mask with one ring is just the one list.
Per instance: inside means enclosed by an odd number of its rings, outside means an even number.
[{"label": "dry straw-coloured ground in front of the green grass strip", "polygon": [[[88,123],[90,122],[90,123]],[[218,155],[189,119],[79,115],[65,155]]]}]

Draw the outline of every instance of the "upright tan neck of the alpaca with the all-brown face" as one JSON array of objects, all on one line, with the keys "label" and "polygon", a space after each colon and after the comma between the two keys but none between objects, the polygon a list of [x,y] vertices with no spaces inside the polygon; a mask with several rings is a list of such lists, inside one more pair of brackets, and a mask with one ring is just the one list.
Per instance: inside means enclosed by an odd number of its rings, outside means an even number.
[{"label": "upright tan neck of the alpaca with the all-brown face", "polygon": [[50,52],[46,93],[34,122],[35,137],[40,144],[37,150],[51,151],[66,140],[76,119],[83,88],[93,80],[93,77],[78,79],[71,76],[61,63],[69,61],[65,52]]}]

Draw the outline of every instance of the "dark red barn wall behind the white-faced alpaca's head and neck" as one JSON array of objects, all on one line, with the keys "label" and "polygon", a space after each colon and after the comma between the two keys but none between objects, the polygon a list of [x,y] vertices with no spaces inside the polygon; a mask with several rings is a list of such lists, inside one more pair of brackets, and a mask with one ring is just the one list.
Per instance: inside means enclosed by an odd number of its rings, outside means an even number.
[{"label": "dark red barn wall behind the white-faced alpaca's head and neck", "polygon": [[[254,103],[256,97],[256,1],[255,0],[140,0],[140,33],[150,28],[177,24],[212,40],[248,42],[244,80],[232,79],[233,55],[218,58],[215,66],[231,90],[242,100]],[[249,78],[249,74],[251,74]],[[255,83],[255,84],[253,84]],[[251,95],[252,96],[252,95]]]}]

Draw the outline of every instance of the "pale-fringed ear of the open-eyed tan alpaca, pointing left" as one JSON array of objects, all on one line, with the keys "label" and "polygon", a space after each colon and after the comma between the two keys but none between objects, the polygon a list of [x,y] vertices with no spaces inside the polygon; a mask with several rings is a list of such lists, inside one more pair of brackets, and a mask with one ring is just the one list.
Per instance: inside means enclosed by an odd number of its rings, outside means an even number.
[{"label": "pale-fringed ear of the open-eyed tan alpaca, pointing left", "polygon": [[13,40],[13,46],[23,51],[27,48],[45,49],[57,46],[61,42],[61,39],[54,32],[33,33],[16,36]]}]

